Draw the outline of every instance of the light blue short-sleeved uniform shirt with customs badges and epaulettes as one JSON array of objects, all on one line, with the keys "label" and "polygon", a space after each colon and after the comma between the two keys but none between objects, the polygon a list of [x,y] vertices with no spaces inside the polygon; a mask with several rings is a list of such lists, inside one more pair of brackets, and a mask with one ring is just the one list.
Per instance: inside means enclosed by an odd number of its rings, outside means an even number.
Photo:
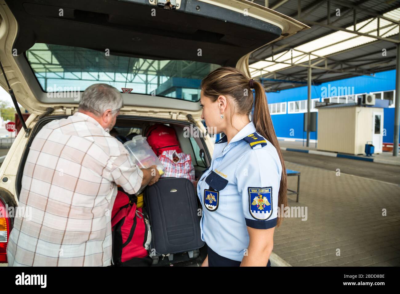
[{"label": "light blue short-sleeved uniform shirt with customs badges and epaulettes", "polygon": [[276,226],[282,165],[275,147],[247,124],[227,144],[215,143],[211,165],[197,184],[201,238],[221,256],[242,261],[247,226]]}]

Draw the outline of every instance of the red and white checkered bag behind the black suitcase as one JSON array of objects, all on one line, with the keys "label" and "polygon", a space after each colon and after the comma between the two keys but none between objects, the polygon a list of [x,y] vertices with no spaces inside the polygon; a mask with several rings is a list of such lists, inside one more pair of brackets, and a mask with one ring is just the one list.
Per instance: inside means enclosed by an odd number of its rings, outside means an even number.
[{"label": "red and white checkered bag behind the black suitcase", "polygon": [[[179,160],[174,162],[173,156],[176,154]],[[192,164],[192,157],[190,154],[177,153],[175,150],[163,151],[158,156],[162,165],[165,167],[165,173],[162,174],[162,178],[175,177],[175,178],[187,178],[194,182],[194,166]]]}]

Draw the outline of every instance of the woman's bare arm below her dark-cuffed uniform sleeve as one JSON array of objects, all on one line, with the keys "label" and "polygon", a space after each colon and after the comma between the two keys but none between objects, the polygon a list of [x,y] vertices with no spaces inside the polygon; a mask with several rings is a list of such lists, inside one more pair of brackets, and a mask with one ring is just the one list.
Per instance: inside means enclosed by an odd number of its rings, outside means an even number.
[{"label": "woman's bare arm below her dark-cuffed uniform sleeve", "polygon": [[255,229],[247,227],[250,242],[240,266],[266,266],[274,247],[274,228]]}]

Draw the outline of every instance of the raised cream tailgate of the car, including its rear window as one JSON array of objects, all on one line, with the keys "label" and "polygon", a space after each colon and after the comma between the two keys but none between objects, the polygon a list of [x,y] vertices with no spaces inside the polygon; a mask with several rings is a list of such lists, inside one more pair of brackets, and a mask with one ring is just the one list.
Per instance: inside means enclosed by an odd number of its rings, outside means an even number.
[{"label": "raised cream tailgate of the car, including its rear window", "polygon": [[[252,51],[308,28],[246,0],[176,2],[173,9],[172,2],[158,0],[0,0],[7,30],[0,34],[0,56],[18,102],[36,114],[48,107],[54,114],[71,113],[79,99],[65,89],[52,95],[56,90],[49,86],[74,86],[80,92],[90,83],[106,82],[132,89],[122,94],[122,114],[151,107],[199,116],[200,106],[192,103],[198,99],[187,102],[173,91],[182,88],[182,80],[198,90],[201,79],[219,66],[236,66],[250,76]],[[152,70],[161,73],[142,78],[145,89],[126,86],[131,75]],[[168,81],[148,87],[163,77]],[[3,79],[0,83],[6,88]]]}]

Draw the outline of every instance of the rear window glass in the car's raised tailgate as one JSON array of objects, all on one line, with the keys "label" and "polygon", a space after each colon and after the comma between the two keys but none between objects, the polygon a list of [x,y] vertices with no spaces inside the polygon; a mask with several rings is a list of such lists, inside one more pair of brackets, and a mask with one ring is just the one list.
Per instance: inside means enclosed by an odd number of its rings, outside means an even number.
[{"label": "rear window glass in the car's raised tailgate", "polygon": [[44,92],[84,91],[92,84],[105,83],[124,93],[198,102],[201,80],[220,67],[204,62],[133,58],[112,55],[107,50],[41,43],[36,43],[25,54]]}]

